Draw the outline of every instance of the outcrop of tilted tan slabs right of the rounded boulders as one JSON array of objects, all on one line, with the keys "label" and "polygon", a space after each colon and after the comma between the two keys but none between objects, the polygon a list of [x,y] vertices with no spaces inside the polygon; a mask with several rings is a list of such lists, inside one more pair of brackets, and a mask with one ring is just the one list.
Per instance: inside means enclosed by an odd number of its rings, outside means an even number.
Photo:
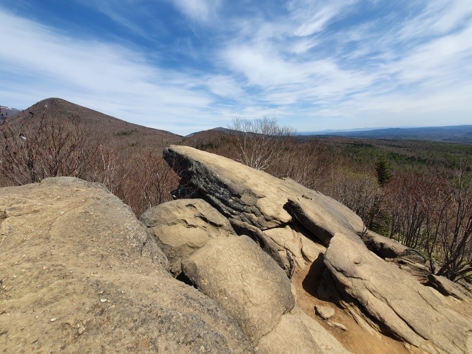
[{"label": "outcrop of tilted tan slabs right of the rounded boulders", "polygon": [[[472,351],[471,320],[454,312],[443,295],[381,258],[395,256],[410,267],[421,255],[368,231],[344,205],[289,179],[190,147],[170,147],[164,158],[182,177],[178,195],[190,190],[237,220],[240,229],[258,229],[253,234],[271,240],[262,243],[273,247],[273,254],[286,252],[283,267],[322,260],[319,294],[345,307],[364,329],[432,353]],[[303,252],[304,244],[310,252]],[[285,328],[284,320],[277,326]],[[261,343],[270,342],[267,338]]]}]

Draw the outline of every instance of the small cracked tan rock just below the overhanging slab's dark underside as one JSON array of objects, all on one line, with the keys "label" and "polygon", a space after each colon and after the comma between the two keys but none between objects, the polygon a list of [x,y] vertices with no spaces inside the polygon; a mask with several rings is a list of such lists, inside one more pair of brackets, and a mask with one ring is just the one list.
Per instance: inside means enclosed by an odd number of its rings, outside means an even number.
[{"label": "small cracked tan rock just below the overhanging slab's dark underside", "polygon": [[215,237],[236,235],[227,218],[203,199],[179,199],[151,207],[140,216],[178,275],[180,260]]}]

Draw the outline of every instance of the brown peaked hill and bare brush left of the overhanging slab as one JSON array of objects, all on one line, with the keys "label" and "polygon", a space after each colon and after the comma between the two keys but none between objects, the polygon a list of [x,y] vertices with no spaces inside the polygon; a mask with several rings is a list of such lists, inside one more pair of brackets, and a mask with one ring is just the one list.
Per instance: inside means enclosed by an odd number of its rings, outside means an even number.
[{"label": "brown peaked hill and bare brush left of the overhanging slab", "polygon": [[139,216],[171,200],[178,184],[162,149],[181,137],[64,100],[47,99],[5,119],[0,138],[0,186],[79,177],[104,184]]}]

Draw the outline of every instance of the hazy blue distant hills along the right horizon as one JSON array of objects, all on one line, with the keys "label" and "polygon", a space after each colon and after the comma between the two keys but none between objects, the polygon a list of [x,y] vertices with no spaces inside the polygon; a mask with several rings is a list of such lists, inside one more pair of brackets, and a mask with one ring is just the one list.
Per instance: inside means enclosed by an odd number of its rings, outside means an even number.
[{"label": "hazy blue distant hills along the right horizon", "polygon": [[416,139],[438,140],[444,142],[472,143],[472,125],[454,125],[447,127],[386,128],[363,131],[318,131],[314,136],[345,136],[348,138],[369,139]]}]

